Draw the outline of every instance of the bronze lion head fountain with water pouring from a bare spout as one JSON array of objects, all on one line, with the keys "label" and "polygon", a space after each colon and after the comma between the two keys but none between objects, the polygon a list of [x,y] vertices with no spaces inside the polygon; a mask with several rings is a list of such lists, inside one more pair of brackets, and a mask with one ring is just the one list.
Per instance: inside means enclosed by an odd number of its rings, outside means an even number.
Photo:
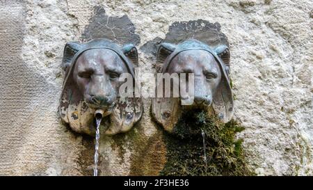
[{"label": "bronze lion head fountain with water pouring from a bare spout", "polygon": [[110,40],[67,42],[64,48],[65,79],[59,113],[79,133],[95,135],[95,111],[101,109],[104,134],[127,132],[142,115],[138,97],[120,97],[120,74],[134,77],[138,54],[134,45],[120,47]]}]

